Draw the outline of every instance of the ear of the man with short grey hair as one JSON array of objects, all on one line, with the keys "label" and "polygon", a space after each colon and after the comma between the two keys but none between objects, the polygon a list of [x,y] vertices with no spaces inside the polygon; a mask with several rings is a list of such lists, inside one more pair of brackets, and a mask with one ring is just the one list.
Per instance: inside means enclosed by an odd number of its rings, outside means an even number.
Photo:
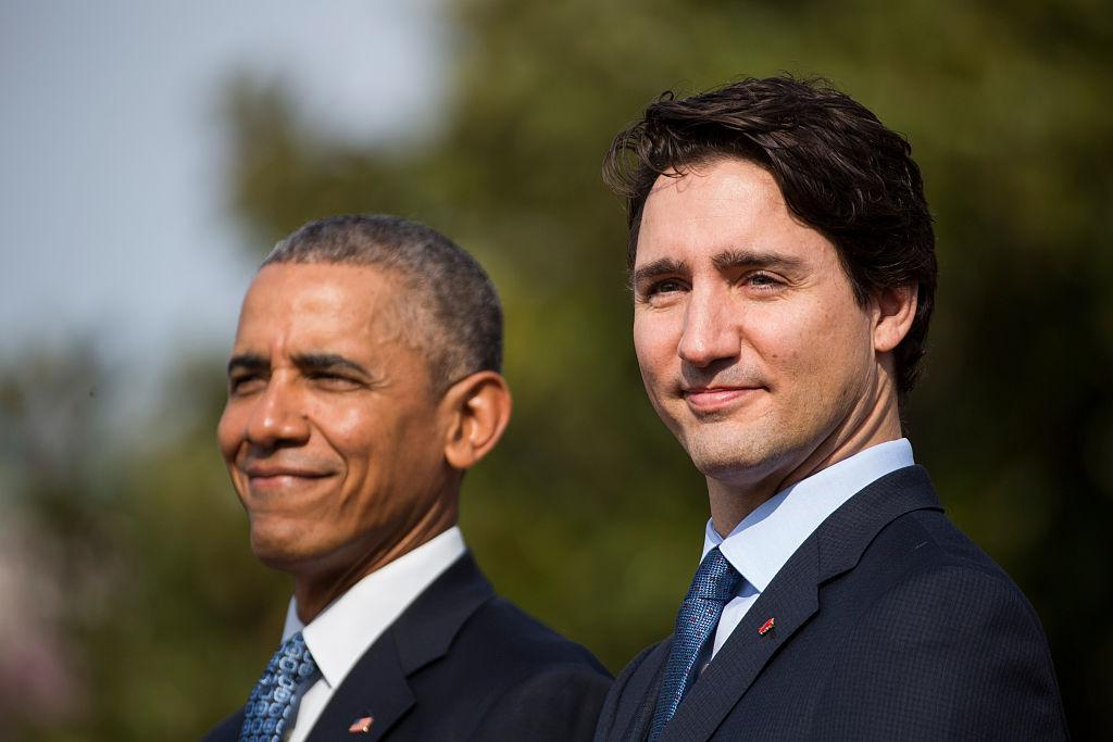
[{"label": "ear of the man with short grey hair", "polygon": [[510,422],[510,388],[494,372],[456,382],[444,395],[449,429],[444,457],[453,468],[469,469],[487,455]]}]

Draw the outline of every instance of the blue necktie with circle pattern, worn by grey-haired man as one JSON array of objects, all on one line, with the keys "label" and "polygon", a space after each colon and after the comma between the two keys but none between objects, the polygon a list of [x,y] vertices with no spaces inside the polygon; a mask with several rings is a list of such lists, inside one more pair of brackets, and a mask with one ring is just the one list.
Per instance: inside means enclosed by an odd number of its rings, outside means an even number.
[{"label": "blue necktie with circle pattern, worn by grey-haired man", "polygon": [[239,742],[282,742],[289,729],[297,686],[316,670],[302,632],[283,642],[247,700]]}]

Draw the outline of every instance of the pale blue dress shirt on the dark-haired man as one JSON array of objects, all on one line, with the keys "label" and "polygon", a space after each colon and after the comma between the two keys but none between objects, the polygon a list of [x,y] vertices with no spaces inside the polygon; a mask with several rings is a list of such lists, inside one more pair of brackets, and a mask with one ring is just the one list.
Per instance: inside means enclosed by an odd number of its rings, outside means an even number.
[{"label": "pale blue dress shirt on the dark-haired man", "polygon": [[831,464],[777,493],[747,515],[726,538],[708,521],[702,556],[718,546],[742,575],[738,596],[722,610],[711,657],[722,649],[788,558],[827,516],[866,485],[914,463],[907,438],[889,441]]}]

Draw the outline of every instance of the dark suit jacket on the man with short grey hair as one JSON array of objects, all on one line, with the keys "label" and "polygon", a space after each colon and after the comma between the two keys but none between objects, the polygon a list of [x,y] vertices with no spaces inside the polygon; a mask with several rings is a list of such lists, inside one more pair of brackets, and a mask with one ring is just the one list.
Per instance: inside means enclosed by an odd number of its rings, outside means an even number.
[{"label": "dark suit jacket on the man with short grey hair", "polygon": [[[610,684],[585,649],[495,596],[465,554],[356,662],[308,741],[590,740]],[[349,733],[363,716],[368,733]],[[206,742],[237,740],[243,720]]]}]

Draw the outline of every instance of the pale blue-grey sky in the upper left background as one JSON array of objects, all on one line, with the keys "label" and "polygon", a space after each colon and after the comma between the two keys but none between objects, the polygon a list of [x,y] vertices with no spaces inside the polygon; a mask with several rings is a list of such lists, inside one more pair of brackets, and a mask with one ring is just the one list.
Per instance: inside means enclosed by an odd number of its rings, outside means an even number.
[{"label": "pale blue-grey sky in the upper left background", "polygon": [[442,99],[440,7],[0,0],[0,363],[79,338],[144,373],[224,353],[254,266],[223,85],[279,80],[315,127],[397,136]]}]

